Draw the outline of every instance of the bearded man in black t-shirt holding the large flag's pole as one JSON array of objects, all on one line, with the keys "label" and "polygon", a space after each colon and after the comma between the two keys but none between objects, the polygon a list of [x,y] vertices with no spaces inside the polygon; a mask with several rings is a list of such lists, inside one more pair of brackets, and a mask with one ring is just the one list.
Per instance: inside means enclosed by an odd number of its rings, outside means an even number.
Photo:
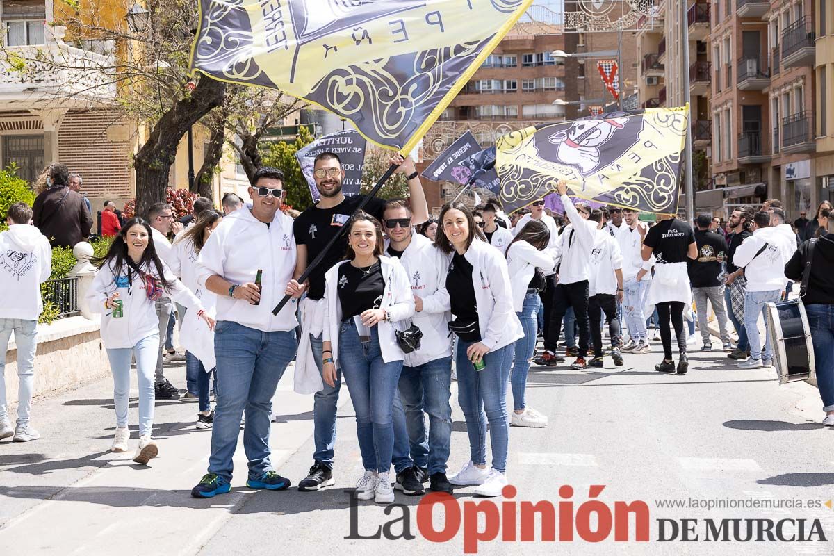
[{"label": "bearded man in black t-shirt holding the large flag's pole", "polygon": [[[390,163],[397,164],[396,173],[404,173],[409,183],[411,197],[412,224],[424,223],[429,219],[429,209],[425,203],[423,186],[418,178],[414,161],[410,157],[403,158],[399,153],[390,158]],[[313,175],[316,188],[321,198],[319,203],[308,208],[295,219],[293,231],[295,236],[298,259],[294,280],[287,286],[287,293],[300,294],[304,286],[296,281],[304,273],[307,265],[324,250],[330,239],[339,229],[348,223],[364,196],[345,197],[342,193],[344,170],[335,153],[320,153],[314,161]],[[385,200],[372,198],[364,207],[364,212],[374,218],[382,220]],[[319,488],[331,486],[333,479],[334,445],[336,443],[336,404],[339,401],[341,374],[336,375],[333,387],[324,381],[319,382],[322,373],[322,330],[324,328],[324,273],[344,257],[348,238],[343,236],[324,256],[319,269],[309,278],[307,298],[301,303],[301,338],[299,340],[299,354],[295,362],[295,383],[300,393],[310,393],[313,384],[321,388],[314,393],[313,424],[315,453],[313,467],[307,478],[299,483],[299,490],[309,492]],[[325,354],[329,356],[330,354]],[[318,368],[319,376],[313,368]],[[308,378],[305,380],[305,378]]]}]

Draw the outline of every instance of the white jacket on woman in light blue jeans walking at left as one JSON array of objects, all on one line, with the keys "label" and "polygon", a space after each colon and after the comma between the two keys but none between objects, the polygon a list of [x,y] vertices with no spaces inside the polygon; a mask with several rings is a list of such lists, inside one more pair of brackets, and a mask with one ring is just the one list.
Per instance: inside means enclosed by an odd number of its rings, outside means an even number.
[{"label": "white jacket on woman in light blue jeans walking at left", "polygon": [[[199,311],[202,303],[194,297],[191,290],[183,286],[168,268],[162,263],[165,280],[171,284],[165,294],[188,309]],[[118,272],[117,272],[118,271]],[[144,273],[159,278],[155,265],[143,267]],[[105,348],[133,348],[140,340],[159,333],[159,318],[156,313],[156,303],[148,299],[145,293],[145,282],[139,273],[129,273],[128,265],[115,268],[113,262],[98,269],[93,284],[87,292],[90,311],[102,313],[102,343]],[[123,303],[123,317],[113,318],[113,310],[104,307],[104,302],[118,292],[118,299]]]}]

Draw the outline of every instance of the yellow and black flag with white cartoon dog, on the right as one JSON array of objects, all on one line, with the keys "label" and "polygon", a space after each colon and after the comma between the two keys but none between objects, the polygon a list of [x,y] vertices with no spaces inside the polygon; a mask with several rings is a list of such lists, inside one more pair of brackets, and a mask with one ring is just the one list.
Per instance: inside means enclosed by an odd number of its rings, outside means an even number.
[{"label": "yellow and black flag with white cartoon dog, on the right", "polygon": [[607,113],[498,139],[500,198],[513,213],[565,179],[571,194],[650,213],[677,212],[689,106]]}]

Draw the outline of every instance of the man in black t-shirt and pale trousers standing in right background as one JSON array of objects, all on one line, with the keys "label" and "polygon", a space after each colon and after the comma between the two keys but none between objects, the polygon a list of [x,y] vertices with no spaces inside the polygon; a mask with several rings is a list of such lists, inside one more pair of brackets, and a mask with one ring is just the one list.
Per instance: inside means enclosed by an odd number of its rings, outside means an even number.
[{"label": "man in black t-shirt and pale trousers standing in right background", "polygon": [[727,313],[724,306],[724,284],[718,279],[721,265],[727,252],[727,243],[720,233],[711,230],[713,221],[709,214],[700,214],[696,218],[698,229],[695,241],[698,245],[698,258],[689,263],[689,281],[692,284],[692,296],[698,313],[698,328],[704,341],[704,351],[711,351],[710,330],[706,326],[706,300],[712,304],[712,311],[716,313],[718,329],[721,333],[721,343],[724,350],[732,351],[730,334],[727,333]]}]

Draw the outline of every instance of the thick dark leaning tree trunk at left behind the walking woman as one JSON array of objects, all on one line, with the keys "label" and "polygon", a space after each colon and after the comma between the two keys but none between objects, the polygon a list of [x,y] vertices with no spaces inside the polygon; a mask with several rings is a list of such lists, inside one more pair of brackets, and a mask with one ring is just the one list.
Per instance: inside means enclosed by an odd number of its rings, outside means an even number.
[{"label": "thick dark leaning tree trunk at left behind the walking woman", "polygon": [[178,100],[153,126],[133,159],[138,216],[144,217],[153,203],[165,200],[168,171],[177,156],[179,140],[190,126],[223,104],[225,90],[225,83],[201,75],[191,98]]}]

